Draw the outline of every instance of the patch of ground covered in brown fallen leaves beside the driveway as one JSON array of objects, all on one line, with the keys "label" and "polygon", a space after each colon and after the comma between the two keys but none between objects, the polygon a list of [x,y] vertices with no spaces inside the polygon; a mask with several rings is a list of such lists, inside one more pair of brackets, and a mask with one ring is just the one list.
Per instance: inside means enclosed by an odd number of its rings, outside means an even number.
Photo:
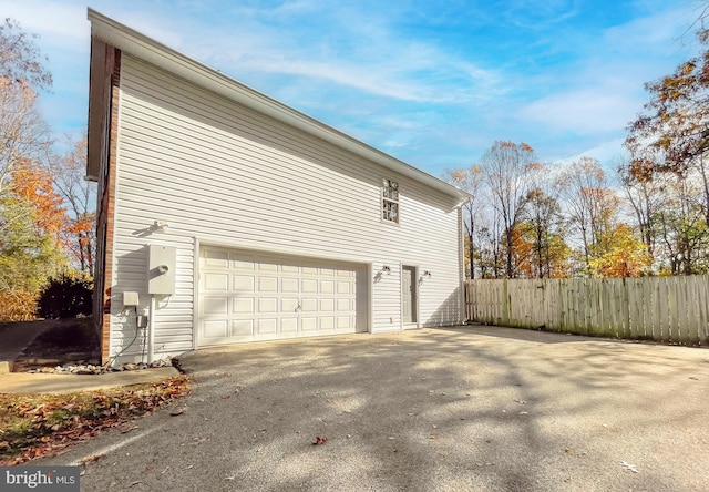
[{"label": "patch of ground covered in brown fallen leaves beside the driveway", "polygon": [[152,385],[71,394],[0,393],[0,464],[19,464],[54,454],[103,429],[182,398],[189,392],[186,376]]}]

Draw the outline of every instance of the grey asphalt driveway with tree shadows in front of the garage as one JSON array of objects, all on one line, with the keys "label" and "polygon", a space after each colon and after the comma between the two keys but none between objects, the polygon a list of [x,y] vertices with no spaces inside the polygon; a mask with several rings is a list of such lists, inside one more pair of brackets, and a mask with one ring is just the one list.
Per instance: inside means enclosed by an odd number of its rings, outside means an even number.
[{"label": "grey asphalt driveway with tree shadows in front of the garage", "polygon": [[[709,351],[491,327],[236,345],[82,491],[706,491]],[[316,438],[327,438],[314,445]]]}]

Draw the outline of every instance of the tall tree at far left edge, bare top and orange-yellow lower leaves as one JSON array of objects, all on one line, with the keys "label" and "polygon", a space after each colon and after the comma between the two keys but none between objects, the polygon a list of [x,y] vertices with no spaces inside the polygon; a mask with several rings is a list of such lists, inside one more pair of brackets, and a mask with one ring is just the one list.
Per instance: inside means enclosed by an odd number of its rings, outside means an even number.
[{"label": "tall tree at far left edge, bare top and orange-yellow lower leaves", "polygon": [[50,88],[52,75],[35,38],[10,19],[0,24],[0,320],[34,315],[41,285],[63,256],[58,217],[42,215],[59,208],[51,182],[30,176],[30,162],[43,161],[51,145],[37,90]]}]

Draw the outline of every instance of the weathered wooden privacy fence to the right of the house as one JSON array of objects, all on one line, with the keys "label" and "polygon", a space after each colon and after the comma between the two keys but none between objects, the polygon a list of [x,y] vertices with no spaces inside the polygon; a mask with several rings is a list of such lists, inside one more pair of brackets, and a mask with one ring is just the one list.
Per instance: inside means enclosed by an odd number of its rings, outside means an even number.
[{"label": "weathered wooden privacy fence to the right of the house", "polygon": [[467,280],[467,319],[578,335],[709,345],[709,276]]}]

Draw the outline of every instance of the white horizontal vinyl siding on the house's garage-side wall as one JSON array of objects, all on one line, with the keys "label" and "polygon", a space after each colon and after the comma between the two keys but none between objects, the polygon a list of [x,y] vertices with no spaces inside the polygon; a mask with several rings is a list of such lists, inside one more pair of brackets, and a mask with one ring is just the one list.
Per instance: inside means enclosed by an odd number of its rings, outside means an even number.
[{"label": "white horizontal vinyl siding on the house's garage-side wall", "polygon": [[[123,55],[112,353],[131,326],[121,293],[146,293],[146,248],[177,248],[177,291],[158,301],[155,350],[195,346],[195,239],[230,248],[371,264],[372,331],[401,327],[401,265],[419,286],[422,326],[461,320],[455,198]],[[381,217],[382,178],[399,183],[399,227]],[[151,230],[160,219],[165,232]],[[122,341],[123,340],[123,341]],[[140,350],[126,350],[136,355]]]}]

